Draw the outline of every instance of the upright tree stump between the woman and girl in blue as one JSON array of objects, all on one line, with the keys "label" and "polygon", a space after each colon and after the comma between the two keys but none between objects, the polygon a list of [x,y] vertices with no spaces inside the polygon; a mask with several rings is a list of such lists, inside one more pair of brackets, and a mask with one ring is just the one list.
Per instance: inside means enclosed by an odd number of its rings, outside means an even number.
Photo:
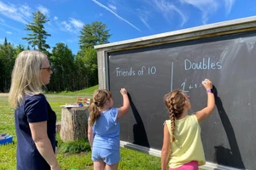
[{"label": "upright tree stump between the woman and girl in blue", "polygon": [[61,140],[87,139],[88,107],[61,108]]}]

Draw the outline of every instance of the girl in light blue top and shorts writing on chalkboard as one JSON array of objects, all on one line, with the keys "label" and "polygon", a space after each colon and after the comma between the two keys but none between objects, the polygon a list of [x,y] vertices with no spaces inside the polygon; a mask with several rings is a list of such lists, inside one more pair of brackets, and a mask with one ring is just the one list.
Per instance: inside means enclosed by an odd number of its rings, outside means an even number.
[{"label": "girl in light blue top and shorts writing on chalkboard", "polygon": [[121,88],[123,106],[113,108],[112,94],[106,89],[98,89],[90,105],[88,139],[92,150],[91,160],[94,170],[118,169],[119,118],[125,116],[130,107],[127,91]]}]

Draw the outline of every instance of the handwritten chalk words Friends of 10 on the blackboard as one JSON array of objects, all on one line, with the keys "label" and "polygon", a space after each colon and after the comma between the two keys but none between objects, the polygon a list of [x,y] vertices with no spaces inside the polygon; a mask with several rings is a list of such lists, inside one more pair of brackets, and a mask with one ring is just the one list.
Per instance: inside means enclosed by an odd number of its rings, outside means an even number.
[{"label": "handwritten chalk words Friends of 10 on the blackboard", "polygon": [[143,75],[154,75],[156,74],[155,66],[142,66],[137,71],[132,67],[129,69],[121,69],[120,67],[115,68],[116,77],[132,77],[132,76],[143,76]]}]

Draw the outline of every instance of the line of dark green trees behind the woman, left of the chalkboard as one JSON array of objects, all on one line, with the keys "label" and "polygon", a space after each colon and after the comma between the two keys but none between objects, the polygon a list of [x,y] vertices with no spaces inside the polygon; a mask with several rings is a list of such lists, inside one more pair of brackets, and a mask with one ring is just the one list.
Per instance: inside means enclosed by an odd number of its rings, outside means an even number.
[{"label": "line of dark green trees behind the woman, left of the chalkboard", "polygon": [[4,38],[0,44],[0,92],[9,92],[11,72],[15,59],[21,51],[33,49],[42,51],[49,56],[54,74],[47,89],[51,92],[75,91],[90,88],[98,84],[97,55],[93,47],[98,44],[108,43],[111,37],[107,26],[102,22],[86,24],[80,31],[79,52],[73,54],[72,50],[63,42],[58,42],[49,51],[47,37],[51,35],[44,30],[44,24],[49,22],[46,16],[39,11],[33,13],[33,20],[26,25],[25,30],[30,31],[25,39],[28,44],[15,45]]}]

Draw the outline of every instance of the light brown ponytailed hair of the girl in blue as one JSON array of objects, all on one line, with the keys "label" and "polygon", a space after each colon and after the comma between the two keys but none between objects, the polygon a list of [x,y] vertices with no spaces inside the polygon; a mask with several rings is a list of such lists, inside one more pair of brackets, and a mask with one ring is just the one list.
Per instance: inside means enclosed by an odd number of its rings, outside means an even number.
[{"label": "light brown ponytailed hair of the girl in blue", "polygon": [[93,94],[93,103],[90,105],[90,126],[93,126],[94,122],[101,116],[101,109],[103,105],[112,98],[110,91],[106,89],[98,89]]}]

